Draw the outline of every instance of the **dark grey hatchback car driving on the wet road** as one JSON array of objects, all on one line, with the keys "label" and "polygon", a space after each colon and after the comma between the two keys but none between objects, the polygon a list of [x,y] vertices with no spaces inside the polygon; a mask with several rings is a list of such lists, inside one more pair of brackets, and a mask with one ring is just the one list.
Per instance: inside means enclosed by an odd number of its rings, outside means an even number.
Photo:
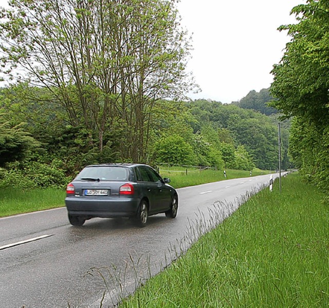
[{"label": "dark grey hatchback car driving on the wet road", "polygon": [[65,206],[73,226],[91,218],[134,218],[140,227],[150,215],[175,218],[178,193],[149,165],[86,166],[66,187]]}]

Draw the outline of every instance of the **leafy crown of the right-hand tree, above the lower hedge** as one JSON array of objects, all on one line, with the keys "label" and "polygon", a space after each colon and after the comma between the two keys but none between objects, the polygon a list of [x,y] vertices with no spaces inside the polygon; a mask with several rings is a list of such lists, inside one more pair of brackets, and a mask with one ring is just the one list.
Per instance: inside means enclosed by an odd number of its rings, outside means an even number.
[{"label": "leafy crown of the right-hand tree, above the lower hedge", "polygon": [[281,62],[274,66],[271,93],[278,98],[272,103],[287,117],[302,116],[319,125],[329,121],[329,3],[308,0],[291,10],[298,24],[281,26],[288,30]]}]

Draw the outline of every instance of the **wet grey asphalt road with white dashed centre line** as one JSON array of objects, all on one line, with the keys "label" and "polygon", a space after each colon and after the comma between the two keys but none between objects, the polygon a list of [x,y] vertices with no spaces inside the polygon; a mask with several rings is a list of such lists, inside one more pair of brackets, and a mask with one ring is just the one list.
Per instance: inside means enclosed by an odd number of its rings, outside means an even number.
[{"label": "wet grey asphalt road with white dashed centre line", "polygon": [[128,219],[72,227],[66,208],[0,219],[0,306],[99,307],[103,295],[111,306],[268,182],[262,175],[178,189],[177,218],[150,216],[145,228]]}]

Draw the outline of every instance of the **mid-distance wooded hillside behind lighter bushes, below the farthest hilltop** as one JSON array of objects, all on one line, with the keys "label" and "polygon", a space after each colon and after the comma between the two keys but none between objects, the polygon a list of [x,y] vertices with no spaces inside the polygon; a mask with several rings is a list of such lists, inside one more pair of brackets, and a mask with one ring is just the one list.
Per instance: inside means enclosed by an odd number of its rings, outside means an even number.
[{"label": "mid-distance wooded hillside behind lighter bushes, below the farthest hilltop", "polygon": [[[223,152],[226,153],[225,162],[229,166],[233,166],[234,155],[232,147],[227,144],[231,144],[230,139],[233,139],[234,148],[244,146],[255,166],[264,170],[278,169],[278,128],[270,118],[235,105],[206,100],[196,100],[193,105],[189,105],[199,122],[211,123],[218,130],[219,138],[226,132],[225,140],[228,143],[223,146]],[[287,146],[284,144],[285,148]]]}]

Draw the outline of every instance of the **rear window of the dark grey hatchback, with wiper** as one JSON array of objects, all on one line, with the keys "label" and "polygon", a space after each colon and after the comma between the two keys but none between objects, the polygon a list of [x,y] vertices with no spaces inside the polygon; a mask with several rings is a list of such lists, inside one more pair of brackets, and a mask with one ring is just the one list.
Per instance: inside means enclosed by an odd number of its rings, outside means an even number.
[{"label": "rear window of the dark grey hatchback, with wiper", "polygon": [[86,167],[77,176],[77,179],[83,178],[126,181],[129,179],[129,170],[125,167],[114,166]]}]

